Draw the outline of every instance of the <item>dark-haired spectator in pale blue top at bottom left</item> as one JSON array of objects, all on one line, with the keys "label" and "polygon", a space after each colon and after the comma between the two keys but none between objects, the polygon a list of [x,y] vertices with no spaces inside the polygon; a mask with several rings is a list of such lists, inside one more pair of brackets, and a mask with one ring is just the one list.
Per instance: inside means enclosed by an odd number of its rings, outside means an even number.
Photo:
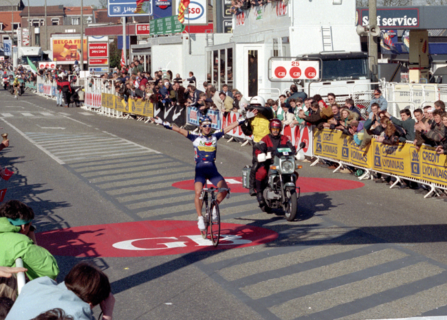
[{"label": "dark-haired spectator in pale blue top at bottom left", "polygon": [[64,282],[49,277],[34,279],[23,286],[6,320],[32,319],[54,308],[61,308],[74,320],[93,320],[92,308],[100,305],[102,319],[111,320],[115,298],[107,275],[85,262],[76,264]]}]

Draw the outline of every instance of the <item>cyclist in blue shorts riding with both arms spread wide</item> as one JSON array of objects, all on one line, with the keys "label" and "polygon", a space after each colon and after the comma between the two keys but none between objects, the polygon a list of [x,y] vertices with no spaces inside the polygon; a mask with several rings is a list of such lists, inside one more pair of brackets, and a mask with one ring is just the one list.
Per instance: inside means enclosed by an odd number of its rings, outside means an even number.
[{"label": "cyclist in blue shorts riding with both arms spread wide", "polygon": [[[194,190],[195,190],[195,198],[194,204],[195,209],[197,211],[197,225],[200,230],[205,230],[204,217],[201,216],[201,189],[204,187],[207,180],[211,181],[213,185],[219,188],[227,188],[223,176],[217,172],[217,167],[215,164],[216,161],[216,153],[217,153],[217,140],[219,140],[223,135],[230,132],[230,130],[236,128],[240,124],[246,122],[247,119],[254,117],[257,114],[257,111],[248,111],[246,117],[241,117],[237,122],[233,122],[229,124],[223,130],[216,130],[215,133],[211,133],[211,124],[212,120],[208,116],[200,117],[199,126],[200,133],[198,135],[179,128],[177,126],[173,126],[169,122],[163,122],[162,119],[151,118],[153,122],[156,124],[162,124],[166,129],[174,130],[181,135],[184,135],[190,141],[193,141],[194,146],[194,154],[195,154],[195,179],[194,179]],[[221,203],[223,199],[226,197],[228,192],[219,192],[217,194],[217,203]]]}]

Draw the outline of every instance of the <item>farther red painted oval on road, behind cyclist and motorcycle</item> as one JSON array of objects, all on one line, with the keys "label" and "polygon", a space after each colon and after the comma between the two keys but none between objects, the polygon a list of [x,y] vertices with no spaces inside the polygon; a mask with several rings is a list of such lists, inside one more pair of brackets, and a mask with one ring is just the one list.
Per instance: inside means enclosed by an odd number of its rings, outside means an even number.
[{"label": "farther red painted oval on road, behind cyclist and motorcycle", "polygon": [[[242,187],[242,178],[240,176],[228,177],[225,178],[225,181],[232,193],[248,193],[248,189]],[[358,187],[363,187],[364,183],[344,179],[312,178],[304,176],[298,178],[298,186],[301,187],[301,192],[328,192],[356,189]],[[194,190],[194,180],[179,181],[173,183],[173,187],[183,190]]]}]

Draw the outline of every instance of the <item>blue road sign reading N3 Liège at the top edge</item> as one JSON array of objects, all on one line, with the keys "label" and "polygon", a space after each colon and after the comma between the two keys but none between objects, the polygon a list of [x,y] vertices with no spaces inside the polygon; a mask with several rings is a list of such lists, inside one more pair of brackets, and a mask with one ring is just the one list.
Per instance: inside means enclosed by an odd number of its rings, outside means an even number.
[{"label": "blue road sign reading N3 Li\u00e8ge at the top edge", "polygon": [[108,16],[151,16],[153,0],[108,0]]}]

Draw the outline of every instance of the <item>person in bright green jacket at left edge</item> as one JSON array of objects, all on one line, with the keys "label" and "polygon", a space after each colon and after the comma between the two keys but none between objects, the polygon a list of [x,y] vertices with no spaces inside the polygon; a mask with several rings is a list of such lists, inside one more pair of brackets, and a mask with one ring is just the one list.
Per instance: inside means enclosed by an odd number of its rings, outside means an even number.
[{"label": "person in bright green jacket at left edge", "polygon": [[14,266],[15,260],[22,258],[30,280],[56,279],[58,264],[47,249],[36,244],[32,219],[34,212],[25,203],[10,200],[0,206],[0,266]]}]

